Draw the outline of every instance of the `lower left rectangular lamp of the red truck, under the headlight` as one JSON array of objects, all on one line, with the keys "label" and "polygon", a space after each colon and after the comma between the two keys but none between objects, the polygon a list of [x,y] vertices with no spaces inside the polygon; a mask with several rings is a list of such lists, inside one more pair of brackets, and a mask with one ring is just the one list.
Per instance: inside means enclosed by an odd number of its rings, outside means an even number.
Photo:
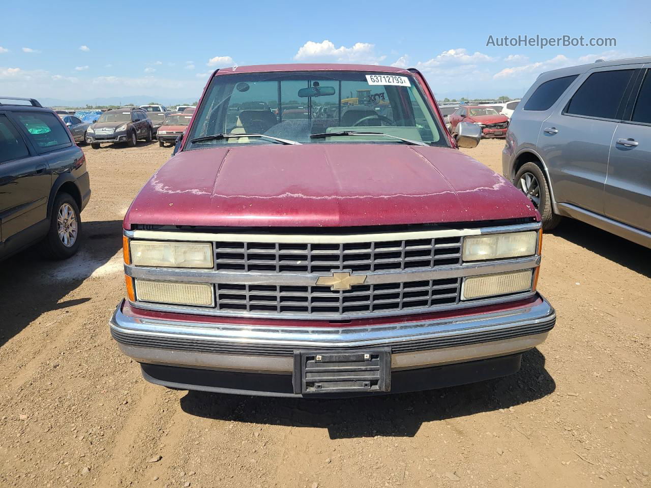
[{"label": "lower left rectangular lamp of the red truck, under the headlight", "polygon": [[210,283],[135,280],[135,297],[143,302],[215,306]]}]

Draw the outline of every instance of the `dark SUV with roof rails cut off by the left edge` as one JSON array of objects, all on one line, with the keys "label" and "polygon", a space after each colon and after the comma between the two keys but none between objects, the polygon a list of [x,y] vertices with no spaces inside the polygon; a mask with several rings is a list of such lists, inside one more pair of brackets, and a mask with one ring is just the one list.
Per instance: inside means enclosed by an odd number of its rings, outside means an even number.
[{"label": "dark SUV with roof rails cut off by the left edge", "polygon": [[53,258],[72,256],[89,199],[86,159],[61,117],[0,97],[0,260],[39,241]]}]

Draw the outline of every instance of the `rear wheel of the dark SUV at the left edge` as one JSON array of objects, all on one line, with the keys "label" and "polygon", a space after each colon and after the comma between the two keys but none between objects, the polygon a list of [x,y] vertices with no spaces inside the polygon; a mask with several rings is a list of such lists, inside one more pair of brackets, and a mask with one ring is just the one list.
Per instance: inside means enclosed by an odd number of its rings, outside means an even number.
[{"label": "rear wheel of the dark SUV at the left edge", "polygon": [[43,239],[46,254],[55,259],[70,258],[79,249],[81,218],[77,202],[68,193],[54,200],[48,235]]}]

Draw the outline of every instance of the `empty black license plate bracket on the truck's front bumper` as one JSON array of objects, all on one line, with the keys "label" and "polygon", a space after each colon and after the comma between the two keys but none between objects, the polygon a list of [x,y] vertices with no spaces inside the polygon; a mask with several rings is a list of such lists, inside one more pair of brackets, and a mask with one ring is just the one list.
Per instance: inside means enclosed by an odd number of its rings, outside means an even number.
[{"label": "empty black license plate bracket on the truck's front bumper", "polygon": [[391,391],[391,349],[294,351],[294,393]]}]

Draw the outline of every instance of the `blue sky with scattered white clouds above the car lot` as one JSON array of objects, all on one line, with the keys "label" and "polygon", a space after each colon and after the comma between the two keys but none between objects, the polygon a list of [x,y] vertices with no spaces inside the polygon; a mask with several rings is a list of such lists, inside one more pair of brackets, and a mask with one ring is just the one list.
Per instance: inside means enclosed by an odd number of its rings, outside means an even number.
[{"label": "blue sky with scattered white clouds above the car lot", "polygon": [[[516,97],[546,70],[651,55],[651,2],[641,0],[0,5],[0,95],[62,100],[197,100],[214,68],[322,61],[416,67],[439,99]],[[486,46],[525,34],[616,46]]]}]

